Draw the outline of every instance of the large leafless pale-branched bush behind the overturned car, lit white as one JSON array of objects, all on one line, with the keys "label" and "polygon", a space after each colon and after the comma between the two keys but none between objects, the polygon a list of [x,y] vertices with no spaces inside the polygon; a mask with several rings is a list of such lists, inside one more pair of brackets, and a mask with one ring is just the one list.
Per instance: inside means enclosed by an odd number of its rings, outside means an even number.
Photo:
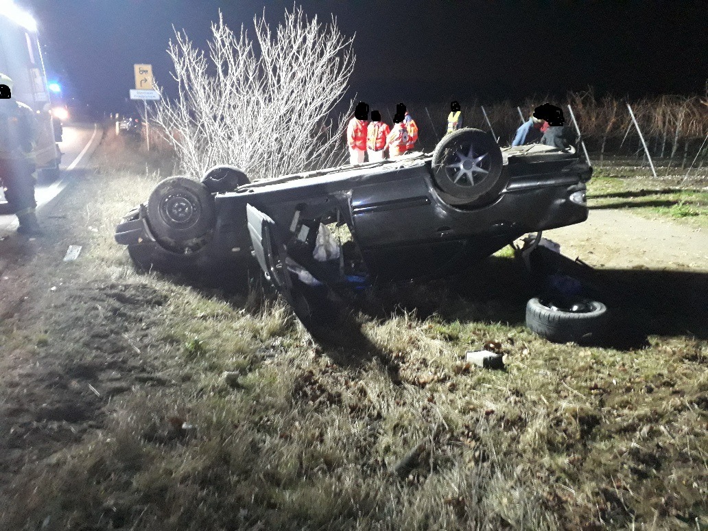
[{"label": "large leafless pale-branched bush behind the overturned car, lit white", "polygon": [[170,41],[178,98],[164,98],[155,120],[183,170],[200,176],[233,164],[258,181],[336,165],[346,122],[331,114],[353,70],[353,38],[336,19],[322,25],[302,8],[286,11],[275,31],[265,13],[253,25],[254,40],[243,25],[238,35],[230,30],[219,13],[208,54],[185,33]]}]

